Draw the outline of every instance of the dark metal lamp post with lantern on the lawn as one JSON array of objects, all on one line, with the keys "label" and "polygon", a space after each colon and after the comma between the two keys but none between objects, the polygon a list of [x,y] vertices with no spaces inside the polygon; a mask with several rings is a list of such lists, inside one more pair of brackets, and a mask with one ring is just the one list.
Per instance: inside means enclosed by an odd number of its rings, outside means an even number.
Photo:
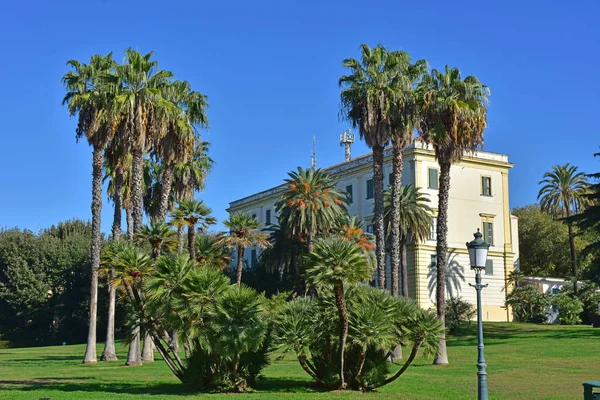
[{"label": "dark metal lamp post with lantern on the lawn", "polygon": [[475,270],[475,285],[469,283],[469,286],[474,287],[477,291],[477,399],[488,400],[487,372],[485,371],[487,364],[483,355],[483,324],[481,321],[481,290],[487,287],[487,284],[481,284],[481,271],[485,268],[490,244],[481,238],[479,229],[473,236],[475,236],[475,240],[467,243],[467,249],[469,250],[471,269]]}]

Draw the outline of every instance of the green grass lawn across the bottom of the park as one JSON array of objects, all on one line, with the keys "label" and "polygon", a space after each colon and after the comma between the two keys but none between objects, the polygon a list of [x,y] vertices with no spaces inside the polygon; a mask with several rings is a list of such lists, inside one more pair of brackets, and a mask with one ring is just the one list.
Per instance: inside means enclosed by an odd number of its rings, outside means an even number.
[{"label": "green grass lawn across the bottom of the park", "polygon": [[[484,329],[491,399],[577,399],[582,382],[600,379],[600,329],[516,323]],[[472,326],[449,337],[450,365],[420,357],[396,382],[367,394],[316,390],[292,354],[277,354],[253,393],[219,395],[185,392],[160,360],[142,367],[82,365],[83,345],[2,349],[0,399],[473,399],[476,342]],[[121,360],[126,350],[119,347]]]}]

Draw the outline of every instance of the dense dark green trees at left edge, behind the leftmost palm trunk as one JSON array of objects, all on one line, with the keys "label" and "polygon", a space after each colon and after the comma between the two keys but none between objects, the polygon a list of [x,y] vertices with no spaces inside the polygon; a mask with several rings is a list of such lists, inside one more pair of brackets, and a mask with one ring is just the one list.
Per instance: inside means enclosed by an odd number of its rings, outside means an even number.
[{"label": "dense dark green trees at left edge, behind the leftmost palm trunk", "polygon": [[[85,340],[91,226],[61,222],[39,235],[0,231],[0,335],[18,345]],[[99,291],[103,305],[106,292]],[[99,312],[102,312],[101,309]],[[104,313],[102,314],[104,315]],[[99,320],[98,329],[104,329]]]}]

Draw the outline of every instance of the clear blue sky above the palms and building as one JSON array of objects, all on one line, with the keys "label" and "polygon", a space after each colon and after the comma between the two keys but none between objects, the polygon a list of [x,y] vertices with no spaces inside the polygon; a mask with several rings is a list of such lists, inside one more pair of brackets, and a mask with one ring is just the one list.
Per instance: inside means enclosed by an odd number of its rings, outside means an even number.
[{"label": "clear blue sky above the palms and building", "polygon": [[[490,4],[496,3],[496,4]],[[485,150],[507,153],[511,207],[543,173],[600,170],[600,3],[548,1],[12,1],[0,12],[0,226],[90,218],[91,149],[61,105],[65,62],[131,46],[208,95],[216,165],[199,195],[230,201],[343,160],[341,61],[381,43],[490,86]],[[353,154],[367,152],[364,144]],[[103,208],[108,231],[111,206]]]}]

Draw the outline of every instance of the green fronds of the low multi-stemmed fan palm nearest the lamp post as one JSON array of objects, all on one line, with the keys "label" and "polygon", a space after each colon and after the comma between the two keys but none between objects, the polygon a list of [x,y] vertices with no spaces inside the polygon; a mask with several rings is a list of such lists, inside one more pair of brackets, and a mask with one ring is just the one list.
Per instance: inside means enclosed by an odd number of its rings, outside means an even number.
[{"label": "green fronds of the low multi-stemmed fan palm nearest the lamp post", "polygon": [[[335,296],[327,287],[316,299],[289,302],[275,324],[276,342],[293,350],[305,372],[319,385],[339,385],[338,315]],[[426,352],[437,349],[442,332],[437,317],[412,300],[365,285],[345,288],[349,332],[344,376],[350,389],[369,390],[397,378],[390,374],[387,355],[400,342]],[[411,360],[412,361],[412,360]],[[408,362],[410,364],[410,362]],[[398,375],[399,376],[399,375]]]}]

